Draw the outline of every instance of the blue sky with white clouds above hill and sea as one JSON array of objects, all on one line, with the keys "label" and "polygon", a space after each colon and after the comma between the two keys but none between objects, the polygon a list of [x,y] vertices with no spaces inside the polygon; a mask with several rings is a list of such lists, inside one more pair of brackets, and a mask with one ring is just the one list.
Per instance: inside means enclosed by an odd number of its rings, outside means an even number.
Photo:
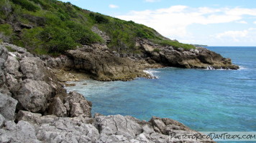
[{"label": "blue sky with white clouds above hill and sea", "polygon": [[187,44],[256,46],[256,0],[61,1],[145,24]]}]

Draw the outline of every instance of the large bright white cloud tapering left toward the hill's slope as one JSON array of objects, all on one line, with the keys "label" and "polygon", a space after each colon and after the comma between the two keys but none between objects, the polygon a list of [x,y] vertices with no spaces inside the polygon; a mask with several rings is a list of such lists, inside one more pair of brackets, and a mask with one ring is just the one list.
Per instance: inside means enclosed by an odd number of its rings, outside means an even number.
[{"label": "large bright white cloud tapering left toward the hill's slope", "polygon": [[179,38],[188,36],[186,28],[191,24],[229,23],[241,20],[245,14],[256,16],[256,9],[170,6],[167,9],[130,11],[129,14],[116,17],[145,24],[169,38]]}]

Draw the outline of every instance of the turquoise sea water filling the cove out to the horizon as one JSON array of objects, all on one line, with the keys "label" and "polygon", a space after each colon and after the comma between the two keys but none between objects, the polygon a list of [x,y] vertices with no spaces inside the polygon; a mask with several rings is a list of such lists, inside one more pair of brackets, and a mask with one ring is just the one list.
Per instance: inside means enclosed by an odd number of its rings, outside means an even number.
[{"label": "turquoise sea water filling the cove out to the horizon", "polygon": [[[239,70],[152,69],[158,79],[77,82],[67,87],[93,102],[92,112],[149,120],[168,117],[198,131],[256,131],[256,47],[209,47]],[[87,85],[83,85],[87,83]]]}]

